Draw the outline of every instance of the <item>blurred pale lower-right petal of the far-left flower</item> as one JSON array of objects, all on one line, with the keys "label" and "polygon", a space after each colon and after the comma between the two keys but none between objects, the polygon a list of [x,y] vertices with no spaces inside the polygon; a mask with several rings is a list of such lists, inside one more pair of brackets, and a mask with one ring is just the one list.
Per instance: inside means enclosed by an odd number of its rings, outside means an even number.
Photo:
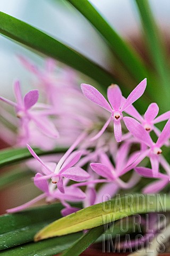
[{"label": "blurred pale lower-right petal of the far-left flower", "polygon": [[36,123],[37,127],[48,137],[50,138],[59,138],[59,133],[53,124],[53,122],[49,121],[46,117],[39,117],[33,114],[30,115],[31,119]]}]

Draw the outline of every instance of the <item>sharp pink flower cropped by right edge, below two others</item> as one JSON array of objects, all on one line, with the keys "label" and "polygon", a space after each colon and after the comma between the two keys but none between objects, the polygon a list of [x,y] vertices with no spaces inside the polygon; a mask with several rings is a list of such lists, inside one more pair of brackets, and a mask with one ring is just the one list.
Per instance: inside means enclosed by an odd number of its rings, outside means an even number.
[{"label": "sharp pink flower cropped by right edge, below two others", "polygon": [[152,172],[154,175],[157,175],[159,171],[159,163],[162,163],[163,161],[165,162],[165,158],[163,156],[160,157],[160,154],[162,154],[161,147],[165,145],[166,141],[170,137],[170,119],[164,126],[164,129],[162,133],[160,133],[156,143],[152,141],[146,129],[134,118],[124,117],[124,123],[135,138],[150,148],[148,157],[150,158]]}]

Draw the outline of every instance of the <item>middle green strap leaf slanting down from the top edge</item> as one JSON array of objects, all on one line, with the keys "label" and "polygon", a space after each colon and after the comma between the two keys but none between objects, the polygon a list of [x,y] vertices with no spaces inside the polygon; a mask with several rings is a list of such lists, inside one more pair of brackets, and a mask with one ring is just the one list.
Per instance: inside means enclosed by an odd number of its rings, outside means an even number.
[{"label": "middle green strap leaf slanting down from the top edge", "polygon": [[[139,82],[145,77],[149,77],[149,72],[140,59],[139,55],[124,42],[116,31],[107,23],[100,13],[90,4],[88,0],[67,0],[97,29],[106,39],[112,51],[131,75]],[[113,14],[114,15],[114,14]]]}]

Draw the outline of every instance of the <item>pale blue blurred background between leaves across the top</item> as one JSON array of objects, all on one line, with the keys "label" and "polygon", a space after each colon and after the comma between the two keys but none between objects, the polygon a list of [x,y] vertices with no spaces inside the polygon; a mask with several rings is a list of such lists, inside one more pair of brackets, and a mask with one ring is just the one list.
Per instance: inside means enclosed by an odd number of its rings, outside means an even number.
[{"label": "pale blue blurred background between leaves across the top", "polygon": [[[129,39],[140,33],[140,22],[133,0],[91,0],[109,23],[123,37]],[[170,2],[150,0],[155,17],[163,30],[168,31]],[[6,0],[0,1],[0,10],[13,15],[74,47],[87,57],[107,69],[113,69],[111,53],[81,14],[65,4],[63,0]],[[101,50],[102,49],[102,50]],[[23,47],[0,36],[1,95],[7,95],[15,78],[29,89],[29,74],[15,54],[25,54],[32,60],[42,63],[40,57]]]}]

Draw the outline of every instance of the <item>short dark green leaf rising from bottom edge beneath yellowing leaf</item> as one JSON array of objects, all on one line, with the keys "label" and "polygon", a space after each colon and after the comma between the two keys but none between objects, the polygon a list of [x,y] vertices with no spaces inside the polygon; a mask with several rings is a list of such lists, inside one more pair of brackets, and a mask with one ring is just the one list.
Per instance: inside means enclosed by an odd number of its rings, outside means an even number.
[{"label": "short dark green leaf rising from bottom edge beneath yellowing leaf", "polygon": [[96,239],[103,234],[104,227],[99,226],[90,229],[86,234],[80,237],[62,256],[79,256],[83,251],[85,251]]}]

